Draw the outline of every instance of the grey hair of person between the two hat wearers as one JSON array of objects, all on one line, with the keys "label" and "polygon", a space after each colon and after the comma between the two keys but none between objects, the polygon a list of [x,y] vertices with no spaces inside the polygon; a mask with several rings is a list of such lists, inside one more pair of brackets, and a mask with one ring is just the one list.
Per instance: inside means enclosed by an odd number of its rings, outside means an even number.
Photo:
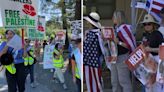
[{"label": "grey hair of person between the two hat wearers", "polygon": [[125,17],[125,13],[124,13],[124,11],[121,11],[121,10],[116,10],[113,13],[113,18],[115,20],[117,20],[117,26],[120,26],[121,24],[124,24],[127,22],[126,17]]}]

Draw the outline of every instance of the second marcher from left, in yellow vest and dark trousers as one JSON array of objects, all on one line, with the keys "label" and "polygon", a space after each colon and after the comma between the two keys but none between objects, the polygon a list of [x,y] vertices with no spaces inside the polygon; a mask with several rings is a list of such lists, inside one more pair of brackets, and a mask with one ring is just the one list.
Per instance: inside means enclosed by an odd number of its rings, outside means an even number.
[{"label": "second marcher from left, in yellow vest and dark trousers", "polygon": [[24,65],[26,66],[27,72],[30,74],[30,80],[31,80],[31,87],[35,87],[34,83],[34,63],[36,60],[34,59],[34,47],[30,45],[30,40],[25,39],[25,42],[27,44],[27,55],[24,57]]}]

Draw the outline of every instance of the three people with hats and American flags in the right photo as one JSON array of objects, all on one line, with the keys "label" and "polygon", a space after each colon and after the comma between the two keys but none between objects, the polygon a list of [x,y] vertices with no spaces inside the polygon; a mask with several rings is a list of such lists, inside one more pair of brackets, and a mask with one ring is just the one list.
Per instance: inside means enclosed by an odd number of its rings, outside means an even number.
[{"label": "three people with hats and American flags in the right photo", "polygon": [[[150,14],[146,14],[140,23],[144,28],[141,44],[144,46],[146,53],[153,55],[153,59],[155,59],[157,64],[159,63],[159,46],[164,41],[164,8],[161,9],[160,16],[162,17],[160,24]],[[116,54],[116,58],[112,57],[112,47],[108,48],[110,46],[107,46],[108,49],[105,47],[106,41],[111,41],[111,39],[104,39],[99,14],[91,12],[87,17],[84,17],[84,20],[88,27],[83,31],[83,77],[84,83],[87,86],[87,92],[103,92],[103,61],[106,62],[111,72],[112,92],[133,92],[133,90],[136,90],[132,87],[131,74],[133,72],[130,71],[125,61],[137,48],[138,44],[131,25],[127,24],[124,11],[115,11],[112,18],[115,33],[115,37],[112,39],[115,45],[112,46],[115,48],[114,54]],[[107,55],[106,52],[110,54]],[[107,59],[109,56],[110,59]],[[153,80],[156,76],[157,71],[150,77]],[[142,92],[164,92],[164,83],[154,81],[150,84],[143,85]]]}]

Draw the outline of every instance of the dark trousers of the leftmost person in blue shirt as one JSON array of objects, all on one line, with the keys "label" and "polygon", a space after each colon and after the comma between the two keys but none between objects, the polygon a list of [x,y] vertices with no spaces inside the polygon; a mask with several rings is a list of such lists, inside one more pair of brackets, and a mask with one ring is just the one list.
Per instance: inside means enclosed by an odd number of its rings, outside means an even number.
[{"label": "dark trousers of the leftmost person in blue shirt", "polygon": [[8,84],[8,92],[24,92],[25,91],[25,80],[26,71],[24,63],[15,64],[16,73],[11,74],[6,70],[6,79]]}]

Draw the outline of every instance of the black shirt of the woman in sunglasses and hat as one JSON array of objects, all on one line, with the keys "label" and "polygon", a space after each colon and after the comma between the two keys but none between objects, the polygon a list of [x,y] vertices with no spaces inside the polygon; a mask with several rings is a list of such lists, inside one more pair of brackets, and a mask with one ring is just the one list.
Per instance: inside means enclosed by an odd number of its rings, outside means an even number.
[{"label": "black shirt of the woman in sunglasses and hat", "polygon": [[[158,48],[163,42],[163,35],[159,31],[153,31],[151,33],[143,33],[148,41],[148,46],[151,48]],[[158,53],[151,52],[152,55],[158,55]]]}]

